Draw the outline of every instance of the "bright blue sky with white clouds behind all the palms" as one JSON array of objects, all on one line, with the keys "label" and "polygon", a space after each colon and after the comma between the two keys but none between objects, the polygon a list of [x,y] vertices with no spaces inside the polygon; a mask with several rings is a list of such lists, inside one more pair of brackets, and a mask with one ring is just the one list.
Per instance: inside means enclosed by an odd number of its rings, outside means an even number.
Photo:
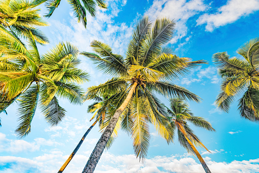
[{"label": "bright blue sky with white clouds behind all the palms", "polygon": [[[212,63],[212,55],[227,52],[231,57],[240,57],[236,51],[246,41],[259,37],[258,0],[154,0],[154,1],[107,1],[107,10],[97,10],[96,18],[87,17],[87,29],[77,23],[67,2],[45,19],[49,27],[42,28],[50,44],[40,47],[43,54],[59,41],[70,41],[80,51],[92,52],[93,39],[109,44],[115,53],[124,55],[136,22],[148,15],[170,17],[176,22],[174,38],[168,44],[179,57],[193,60],[204,59],[208,65],[196,68],[190,74],[173,83],[184,86],[199,95],[200,104],[190,102],[196,116],[202,116],[212,123],[216,132],[208,132],[192,126],[203,144],[212,154],[198,147],[198,151],[212,172],[259,172],[259,125],[240,118],[237,103],[232,104],[229,113],[214,106],[219,93],[220,76]],[[44,7],[42,7],[44,8]],[[42,14],[46,11],[43,9]],[[89,72],[91,81],[87,87],[98,85],[110,77],[95,69],[95,65],[80,56],[80,68]],[[168,105],[167,98],[160,99]],[[87,106],[70,105],[61,100],[67,110],[66,118],[50,128],[37,113],[32,122],[31,133],[22,139],[14,135],[17,126],[16,105],[7,109],[8,116],[0,115],[0,172],[57,172],[85,131],[91,126],[91,114]],[[151,140],[147,159],[139,162],[134,156],[131,137],[119,132],[111,149],[105,151],[95,172],[203,172],[199,161],[187,154],[178,144],[168,145],[158,133],[150,128]],[[81,149],[64,172],[82,172],[95,143],[100,137],[98,127],[94,127]]]}]

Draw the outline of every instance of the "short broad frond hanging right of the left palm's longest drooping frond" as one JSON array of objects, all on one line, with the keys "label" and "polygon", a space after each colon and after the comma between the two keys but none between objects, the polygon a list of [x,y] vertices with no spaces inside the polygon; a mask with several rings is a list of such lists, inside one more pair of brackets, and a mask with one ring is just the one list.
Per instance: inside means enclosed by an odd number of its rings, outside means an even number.
[{"label": "short broad frond hanging right of the left palm's longest drooping frond", "polygon": [[59,101],[54,96],[48,105],[41,105],[45,120],[50,126],[56,126],[65,117],[65,109],[59,105]]}]

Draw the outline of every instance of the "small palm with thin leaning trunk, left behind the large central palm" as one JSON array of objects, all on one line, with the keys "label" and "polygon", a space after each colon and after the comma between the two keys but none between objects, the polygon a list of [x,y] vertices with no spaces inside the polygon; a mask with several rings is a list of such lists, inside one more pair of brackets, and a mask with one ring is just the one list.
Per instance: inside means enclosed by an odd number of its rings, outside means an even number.
[{"label": "small palm with thin leaning trunk, left behind the large central palm", "polygon": [[[95,96],[93,98],[93,100],[95,100],[95,102],[88,106],[87,112],[88,113],[94,113],[95,112],[93,117],[90,119],[90,121],[93,120],[94,118],[96,118],[96,120],[94,121],[92,126],[90,126],[90,128],[86,131],[84,136],[81,138],[80,142],[76,145],[74,151],[71,153],[71,155],[68,157],[68,159],[62,165],[62,167],[59,169],[58,173],[61,173],[61,172],[64,171],[64,169],[66,168],[68,163],[72,160],[72,158],[74,157],[76,152],[79,150],[79,148],[82,145],[82,143],[84,142],[86,136],[92,130],[92,128],[94,127],[96,122],[99,121],[100,126],[101,126],[102,123],[103,123],[103,120],[105,119],[105,116],[110,114],[111,112],[114,112],[113,111],[114,108],[113,108],[112,103],[114,102],[114,99],[115,99],[116,96],[118,96],[118,94],[115,94],[115,95],[111,96],[108,93],[104,93],[102,97]],[[112,138],[110,138],[110,141],[111,141],[111,139]],[[112,141],[110,143],[112,143]]]}]

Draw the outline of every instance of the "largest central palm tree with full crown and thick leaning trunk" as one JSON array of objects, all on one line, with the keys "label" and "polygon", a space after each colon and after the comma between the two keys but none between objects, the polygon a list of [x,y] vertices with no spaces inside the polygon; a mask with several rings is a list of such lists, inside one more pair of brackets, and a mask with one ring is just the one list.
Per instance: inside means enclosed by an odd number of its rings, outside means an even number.
[{"label": "largest central palm tree with full crown and thick leaning trunk", "polygon": [[[177,79],[184,75],[189,68],[204,63],[203,60],[191,61],[189,58],[179,58],[163,49],[173,36],[175,23],[173,20],[157,19],[153,27],[148,17],[139,21],[128,45],[126,58],[114,54],[109,45],[99,41],[92,41],[91,47],[97,53],[82,54],[98,64],[97,68],[103,70],[114,78],[98,86],[89,87],[85,98],[92,99],[103,92],[110,94],[121,93],[125,99],[119,99],[116,111],[109,121],[109,125],[97,142],[83,172],[93,172],[95,166],[106,147],[106,144],[121,117],[126,110],[131,109],[134,131],[133,145],[135,154],[140,159],[147,154],[149,144],[148,120],[159,130],[160,134],[171,141],[171,130],[165,127],[166,118],[157,110],[153,92],[164,96],[178,96],[199,102],[199,97],[186,88],[179,87],[165,80]],[[127,115],[127,113],[125,113]],[[128,116],[127,116],[128,117]]]}]

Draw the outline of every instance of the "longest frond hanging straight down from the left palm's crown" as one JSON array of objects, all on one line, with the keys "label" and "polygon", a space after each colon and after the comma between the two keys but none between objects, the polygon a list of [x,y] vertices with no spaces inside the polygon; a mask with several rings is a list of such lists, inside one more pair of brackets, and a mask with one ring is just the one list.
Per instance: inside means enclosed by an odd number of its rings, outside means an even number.
[{"label": "longest frond hanging straight down from the left palm's crown", "polygon": [[27,92],[19,97],[18,121],[19,125],[15,133],[24,137],[31,132],[31,122],[34,117],[39,98],[39,85],[32,85]]}]

